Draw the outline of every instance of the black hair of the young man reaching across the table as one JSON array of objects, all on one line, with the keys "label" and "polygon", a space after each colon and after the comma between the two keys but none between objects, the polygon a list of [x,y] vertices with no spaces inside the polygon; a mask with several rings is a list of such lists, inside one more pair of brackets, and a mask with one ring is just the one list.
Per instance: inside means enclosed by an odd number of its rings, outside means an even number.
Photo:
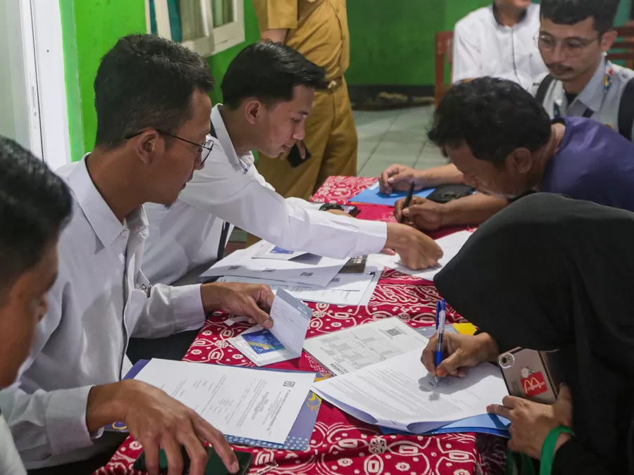
[{"label": "black hair of the young man reaching across the table", "polygon": [[231,61],[220,89],[232,109],[254,97],[271,104],[293,99],[296,86],[323,89],[325,70],[290,46],[263,40],[249,44]]}]

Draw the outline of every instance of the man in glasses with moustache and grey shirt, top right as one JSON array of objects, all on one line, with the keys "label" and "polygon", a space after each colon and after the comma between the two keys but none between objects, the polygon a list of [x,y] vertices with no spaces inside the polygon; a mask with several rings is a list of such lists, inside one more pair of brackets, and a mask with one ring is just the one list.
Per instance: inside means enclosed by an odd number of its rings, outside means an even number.
[{"label": "man in glasses with moustache and grey shirt, top right", "polygon": [[634,139],[634,71],[605,54],[616,40],[619,0],[543,0],[537,38],[547,75],[535,97],[551,118],[592,118]]}]

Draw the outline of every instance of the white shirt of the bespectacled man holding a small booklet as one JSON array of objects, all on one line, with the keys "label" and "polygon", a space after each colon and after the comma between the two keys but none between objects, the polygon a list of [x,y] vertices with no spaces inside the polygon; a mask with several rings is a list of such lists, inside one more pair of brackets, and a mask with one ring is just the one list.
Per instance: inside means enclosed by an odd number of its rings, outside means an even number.
[{"label": "white shirt of the bespectacled man holding a small booklet", "polygon": [[125,375],[130,336],[168,336],[200,327],[205,318],[199,285],[152,287],[142,274],[142,208],[121,224],[85,159],[58,174],[74,198],[73,217],[59,241],[58,278],[18,381],[0,392],[27,469],[84,460],[110,445],[107,433],[88,432],[90,388]]}]

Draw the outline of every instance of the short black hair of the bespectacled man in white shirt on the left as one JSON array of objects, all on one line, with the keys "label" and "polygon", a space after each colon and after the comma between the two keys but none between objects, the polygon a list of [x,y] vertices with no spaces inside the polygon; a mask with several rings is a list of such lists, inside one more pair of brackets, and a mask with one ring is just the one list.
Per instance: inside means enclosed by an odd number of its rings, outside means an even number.
[{"label": "short black hair of the bespectacled man in white shirt on the left", "polygon": [[213,89],[206,63],[182,44],[130,34],[101,58],[94,80],[96,146],[116,148],[143,129],[174,133],[192,118],[192,94]]}]

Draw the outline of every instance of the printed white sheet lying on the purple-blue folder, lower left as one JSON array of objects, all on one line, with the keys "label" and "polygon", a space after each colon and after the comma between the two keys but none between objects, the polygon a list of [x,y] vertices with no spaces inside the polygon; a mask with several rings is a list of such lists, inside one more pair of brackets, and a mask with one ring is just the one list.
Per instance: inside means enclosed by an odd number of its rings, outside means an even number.
[{"label": "printed white sheet lying on the purple-blue folder, lower left", "polygon": [[135,379],[162,389],[228,436],[285,443],[315,374],[151,360]]}]

